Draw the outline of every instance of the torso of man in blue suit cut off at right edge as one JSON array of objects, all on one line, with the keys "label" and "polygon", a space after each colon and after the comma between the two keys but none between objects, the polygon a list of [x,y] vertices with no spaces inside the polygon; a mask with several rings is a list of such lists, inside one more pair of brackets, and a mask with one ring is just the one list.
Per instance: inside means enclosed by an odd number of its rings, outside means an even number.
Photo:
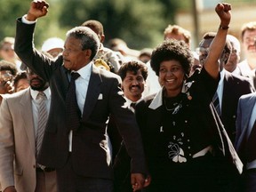
[{"label": "torso of man in blue suit cut off at right edge", "polygon": [[[243,95],[238,101],[236,118],[235,148],[244,164],[243,191],[256,191],[256,136],[252,130],[256,129],[256,93]],[[254,127],[254,128],[253,128]],[[248,139],[254,140],[250,142]],[[250,139],[250,140],[251,140]],[[252,147],[252,150],[251,150]]]}]

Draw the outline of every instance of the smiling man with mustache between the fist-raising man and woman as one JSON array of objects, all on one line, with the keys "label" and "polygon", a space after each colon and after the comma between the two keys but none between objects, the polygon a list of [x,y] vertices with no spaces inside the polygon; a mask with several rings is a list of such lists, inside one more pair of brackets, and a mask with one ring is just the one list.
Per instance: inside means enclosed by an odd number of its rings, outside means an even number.
[{"label": "smiling man with mustache between the fist-raising man and woman", "polygon": [[[140,60],[131,60],[124,62],[117,74],[122,79],[122,89],[127,105],[134,111],[135,105],[143,99],[142,92],[146,86],[148,68]],[[117,132],[116,121],[112,116],[108,122],[108,134],[112,145],[115,192],[130,192],[132,191],[130,185],[131,157],[127,154],[124,142]]]}]

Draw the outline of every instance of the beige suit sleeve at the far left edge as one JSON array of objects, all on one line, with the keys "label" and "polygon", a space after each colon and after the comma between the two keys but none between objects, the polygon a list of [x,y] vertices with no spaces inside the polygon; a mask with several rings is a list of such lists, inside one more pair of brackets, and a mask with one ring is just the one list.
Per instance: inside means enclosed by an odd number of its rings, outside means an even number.
[{"label": "beige suit sleeve at the far left edge", "polygon": [[8,186],[14,186],[13,138],[12,115],[7,100],[3,99],[0,107],[0,183],[2,191]]}]

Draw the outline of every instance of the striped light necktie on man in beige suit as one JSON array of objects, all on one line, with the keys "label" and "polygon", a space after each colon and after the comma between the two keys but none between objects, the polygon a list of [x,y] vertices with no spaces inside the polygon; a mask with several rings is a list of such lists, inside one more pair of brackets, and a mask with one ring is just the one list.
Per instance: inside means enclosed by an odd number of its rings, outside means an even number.
[{"label": "striped light necktie on man in beige suit", "polygon": [[44,129],[47,122],[48,113],[46,109],[46,103],[45,103],[46,96],[44,92],[39,92],[36,96],[36,100],[39,100],[38,126],[37,126],[37,132],[36,132],[36,156],[37,156],[42,146]]}]

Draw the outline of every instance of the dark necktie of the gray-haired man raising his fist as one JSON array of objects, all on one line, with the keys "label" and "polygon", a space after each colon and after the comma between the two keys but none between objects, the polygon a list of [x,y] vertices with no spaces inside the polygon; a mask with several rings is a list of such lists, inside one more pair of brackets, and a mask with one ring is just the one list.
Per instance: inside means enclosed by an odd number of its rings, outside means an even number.
[{"label": "dark necktie of the gray-haired man raising his fist", "polygon": [[68,131],[77,130],[80,126],[81,112],[76,100],[76,84],[75,81],[80,75],[71,73],[71,80],[66,95],[66,113]]}]

